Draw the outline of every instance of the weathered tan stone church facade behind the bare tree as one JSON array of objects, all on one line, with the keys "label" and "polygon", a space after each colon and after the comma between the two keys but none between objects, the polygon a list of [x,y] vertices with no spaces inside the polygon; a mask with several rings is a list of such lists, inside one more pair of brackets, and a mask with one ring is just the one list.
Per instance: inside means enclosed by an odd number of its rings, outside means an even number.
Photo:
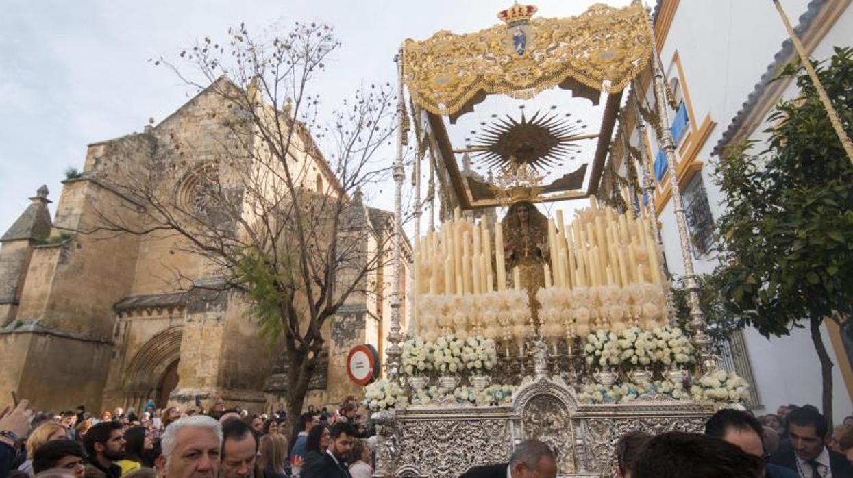
[{"label": "weathered tan stone church facade behind the bare tree", "polygon": [[[205,259],[165,233],[73,233],[96,227],[104,211],[139,207],[101,181],[104,175],[159,168],[158,187],[186,188],[194,171],[207,167],[206,158],[222,153],[218,148],[229,134],[223,102],[206,89],[142,133],[89,145],[83,174],[63,181],[55,216],[41,187],[3,234],[0,390],[16,390],[44,410],[82,404],[91,411],[139,411],[149,399],[158,406],[223,399],[252,411],[281,405],[287,371],[281,348],[259,337],[241,293],[206,287],[219,279]],[[194,144],[189,158],[176,146],[180,141]],[[314,161],[305,168],[305,186],[334,182],[322,158],[304,160]],[[326,366],[319,367],[306,404],[360,394],[347,378],[346,354],[355,344],[371,343],[381,356],[390,327],[392,251],[386,245],[393,217],[363,204],[360,193],[351,205],[347,227],[368,231],[359,247],[387,265],[368,278],[374,293],[351,296],[324,325],[320,359]],[[410,256],[403,244],[401,297]],[[407,312],[403,301],[403,327]],[[0,394],[0,406],[10,400],[8,392]]]}]

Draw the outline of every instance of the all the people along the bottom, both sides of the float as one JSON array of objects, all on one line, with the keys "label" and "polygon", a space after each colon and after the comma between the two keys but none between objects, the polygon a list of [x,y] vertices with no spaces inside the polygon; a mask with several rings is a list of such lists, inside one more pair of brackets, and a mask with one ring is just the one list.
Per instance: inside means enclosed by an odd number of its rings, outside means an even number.
[{"label": "all the people along the bottom, both sides of the float", "polygon": [[[309,406],[287,429],[284,412],[121,408],[93,418],[30,410],[0,414],[0,478],[368,478],[374,437],[357,402],[334,412]],[[722,409],[704,434],[630,432],[618,439],[617,478],[853,478],[853,417],[829,429],[815,406],[782,406],[754,417]],[[548,478],[557,457],[542,441],[522,441],[508,463],[461,478]]]}]

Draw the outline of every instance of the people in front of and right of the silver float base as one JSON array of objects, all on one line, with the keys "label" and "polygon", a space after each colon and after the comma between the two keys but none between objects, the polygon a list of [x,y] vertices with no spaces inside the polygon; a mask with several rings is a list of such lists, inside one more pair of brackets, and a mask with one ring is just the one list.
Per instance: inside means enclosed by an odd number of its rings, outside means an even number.
[{"label": "people in front of and right of the silver float base", "polygon": [[[617,478],[853,478],[853,417],[828,429],[815,406],[780,407],[754,417],[724,408],[705,433],[632,431],[615,447]],[[508,463],[469,469],[461,478],[554,478],[557,456],[542,441],[522,441]]]}]

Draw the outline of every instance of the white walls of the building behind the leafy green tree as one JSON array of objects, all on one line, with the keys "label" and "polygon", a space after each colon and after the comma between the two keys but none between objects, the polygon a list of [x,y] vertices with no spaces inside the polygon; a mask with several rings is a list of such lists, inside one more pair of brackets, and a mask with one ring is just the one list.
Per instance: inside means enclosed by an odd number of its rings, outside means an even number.
[{"label": "white walls of the building behind the leafy green tree", "polygon": [[[782,0],[794,24],[808,4],[809,0]],[[853,45],[851,32],[853,8],[848,7],[812,56],[826,59],[832,54],[833,46]],[[664,70],[669,70],[677,51],[697,123],[708,114],[717,123],[697,157],[705,163],[701,175],[715,220],[722,206],[712,164],[717,158],[711,157],[711,150],[786,38],[786,30],[771,2],[682,1],[676,10],[660,57]],[[795,86],[789,85],[785,95],[795,94]],[[765,139],[766,135],[760,132],[764,129],[758,128],[751,139]],[[655,145],[655,141],[652,144]],[[657,153],[656,149],[652,153]],[[661,211],[659,221],[670,271],[682,274],[684,262],[671,199]],[[693,260],[697,274],[710,273],[716,265],[713,257]],[[837,360],[825,327],[823,337],[833,360]],[[749,329],[745,331],[745,339],[754,372],[753,385],[763,405],[755,412],[775,412],[778,406],[788,403],[820,406],[820,363],[807,329],[794,329],[790,336],[772,340]],[[850,415],[853,405],[838,366],[833,368],[833,384],[835,417]]]}]

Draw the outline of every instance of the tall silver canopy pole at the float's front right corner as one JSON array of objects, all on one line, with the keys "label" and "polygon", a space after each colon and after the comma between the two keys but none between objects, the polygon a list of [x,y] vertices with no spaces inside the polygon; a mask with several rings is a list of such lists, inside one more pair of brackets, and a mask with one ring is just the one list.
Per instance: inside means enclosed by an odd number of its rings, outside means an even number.
[{"label": "tall silver canopy pole at the float's front right corner", "polygon": [[[655,45],[654,33],[652,44]],[[670,132],[670,112],[666,105],[666,91],[664,89],[664,68],[660,62],[658,49],[652,48],[652,84],[654,90],[654,103],[658,110],[658,135],[661,148],[666,154],[667,168],[670,172],[670,190],[676,214],[676,226],[678,236],[681,239],[682,259],[684,260],[684,282],[688,291],[688,303],[690,306],[690,328],[693,329],[693,341],[699,347],[702,360],[702,368],[705,371],[717,366],[711,343],[708,336],[705,314],[699,308],[699,285],[696,282],[696,274],[693,271],[693,254],[690,251],[690,234],[688,233],[687,217],[684,215],[684,202],[682,200],[681,187],[678,185],[678,173],[676,171],[676,145]]]}]

